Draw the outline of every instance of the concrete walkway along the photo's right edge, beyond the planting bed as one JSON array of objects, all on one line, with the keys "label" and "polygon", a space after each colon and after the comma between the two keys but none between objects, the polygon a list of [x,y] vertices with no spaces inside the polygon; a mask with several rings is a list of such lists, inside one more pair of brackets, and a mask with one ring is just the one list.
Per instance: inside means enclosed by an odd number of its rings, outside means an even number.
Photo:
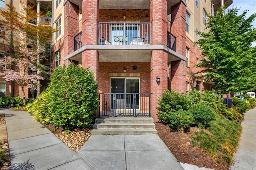
[{"label": "concrete walkway along the photo's right edge, beyond the planting bed", "polygon": [[244,114],[239,149],[234,156],[231,170],[256,170],[256,109]]}]

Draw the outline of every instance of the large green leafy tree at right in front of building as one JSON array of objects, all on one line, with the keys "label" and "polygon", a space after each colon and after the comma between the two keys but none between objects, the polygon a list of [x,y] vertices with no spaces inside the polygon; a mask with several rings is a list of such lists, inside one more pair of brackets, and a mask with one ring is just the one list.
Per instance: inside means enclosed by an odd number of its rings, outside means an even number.
[{"label": "large green leafy tree at right in front of building", "polygon": [[256,89],[256,29],[252,22],[256,14],[246,18],[247,11],[238,16],[239,8],[232,8],[224,15],[220,8],[216,16],[208,16],[206,30],[199,32],[201,39],[196,42],[202,49],[203,68],[198,73],[205,81],[215,83],[220,94],[238,93]]}]

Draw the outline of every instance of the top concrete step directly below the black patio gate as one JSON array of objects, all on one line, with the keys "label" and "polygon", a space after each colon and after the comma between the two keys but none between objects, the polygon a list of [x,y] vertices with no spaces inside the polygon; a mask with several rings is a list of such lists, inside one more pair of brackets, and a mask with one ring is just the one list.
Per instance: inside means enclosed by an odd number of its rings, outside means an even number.
[{"label": "top concrete step directly below the black patio gate", "polygon": [[153,123],[152,117],[100,117],[95,123]]}]

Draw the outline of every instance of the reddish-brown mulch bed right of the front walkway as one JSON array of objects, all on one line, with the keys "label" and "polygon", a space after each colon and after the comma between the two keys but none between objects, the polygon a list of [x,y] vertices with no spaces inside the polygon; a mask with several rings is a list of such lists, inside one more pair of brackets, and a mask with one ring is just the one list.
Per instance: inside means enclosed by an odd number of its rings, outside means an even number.
[{"label": "reddish-brown mulch bed right of the front walkway", "polygon": [[[155,123],[158,135],[170,149],[178,162],[197,165],[214,170],[228,170],[229,164],[218,163],[216,159],[208,156],[199,146],[193,147],[191,137],[200,128],[191,127],[186,133],[179,133],[163,123]],[[220,162],[224,162],[221,160]]]}]

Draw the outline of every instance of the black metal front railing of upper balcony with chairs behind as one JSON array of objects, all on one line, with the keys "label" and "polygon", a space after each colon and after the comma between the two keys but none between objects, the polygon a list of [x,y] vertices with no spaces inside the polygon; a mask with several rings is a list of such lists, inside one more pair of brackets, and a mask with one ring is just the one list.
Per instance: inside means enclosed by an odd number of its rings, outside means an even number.
[{"label": "black metal front railing of upper balcony with chairs behind", "polygon": [[151,44],[151,24],[144,22],[99,22],[99,45]]}]

